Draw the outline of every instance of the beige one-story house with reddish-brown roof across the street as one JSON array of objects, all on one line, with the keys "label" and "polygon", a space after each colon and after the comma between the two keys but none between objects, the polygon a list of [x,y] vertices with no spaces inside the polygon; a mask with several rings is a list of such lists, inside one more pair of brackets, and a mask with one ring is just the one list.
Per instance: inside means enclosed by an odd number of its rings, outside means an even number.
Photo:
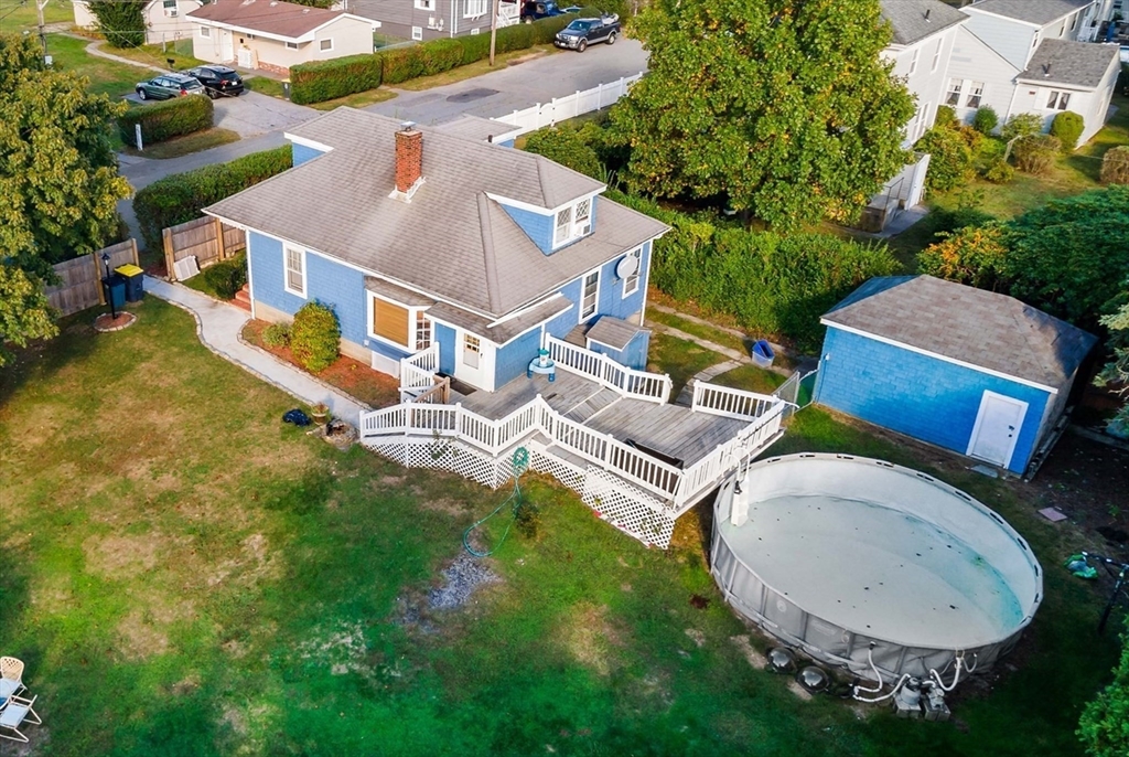
[{"label": "beige one-story house with reddish-brown roof across the street", "polygon": [[219,0],[189,15],[193,55],[289,73],[291,66],[373,52],[379,21],[277,0]]}]

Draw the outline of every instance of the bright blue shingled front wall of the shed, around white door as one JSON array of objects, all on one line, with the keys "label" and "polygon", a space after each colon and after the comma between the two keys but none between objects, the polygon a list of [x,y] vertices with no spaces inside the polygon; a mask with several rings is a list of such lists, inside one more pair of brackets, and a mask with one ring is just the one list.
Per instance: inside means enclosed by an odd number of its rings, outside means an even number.
[{"label": "bright blue shingled front wall of the shed, around white door", "polygon": [[829,328],[815,401],[964,454],[984,390],[1027,403],[1009,469],[1034,451],[1049,394],[927,355]]}]

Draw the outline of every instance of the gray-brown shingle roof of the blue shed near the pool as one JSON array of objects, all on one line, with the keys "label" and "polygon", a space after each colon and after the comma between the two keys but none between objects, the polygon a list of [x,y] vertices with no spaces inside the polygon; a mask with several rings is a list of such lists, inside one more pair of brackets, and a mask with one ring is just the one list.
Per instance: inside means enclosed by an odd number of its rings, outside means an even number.
[{"label": "gray-brown shingle roof of the blue shed near the pool", "polygon": [[822,321],[1052,392],[1096,341],[1007,295],[931,276],[870,279]]}]

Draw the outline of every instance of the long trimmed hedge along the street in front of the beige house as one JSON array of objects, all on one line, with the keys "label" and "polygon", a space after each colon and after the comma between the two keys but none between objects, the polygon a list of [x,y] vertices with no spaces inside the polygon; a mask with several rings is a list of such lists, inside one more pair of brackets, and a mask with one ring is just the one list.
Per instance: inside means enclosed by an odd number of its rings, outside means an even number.
[{"label": "long trimmed hedge along the street in front of the beige house", "polygon": [[[598,11],[580,12],[581,16]],[[542,18],[533,24],[516,24],[498,29],[497,53],[549,44],[575,16]],[[334,60],[299,63],[290,68],[290,99],[299,105],[321,103],[353,93],[374,89],[382,84],[402,84],[421,76],[435,76],[490,55],[490,35],[432,40],[410,47]]]}]

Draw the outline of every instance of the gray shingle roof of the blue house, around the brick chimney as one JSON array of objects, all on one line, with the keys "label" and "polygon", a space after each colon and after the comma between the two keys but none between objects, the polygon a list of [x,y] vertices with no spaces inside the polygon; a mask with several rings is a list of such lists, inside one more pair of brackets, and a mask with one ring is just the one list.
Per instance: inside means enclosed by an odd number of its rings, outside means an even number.
[{"label": "gray shingle roof of the blue house, around the brick chimney", "polygon": [[338,108],[290,130],[330,153],[205,211],[496,317],[667,228],[601,198],[594,233],[545,255],[487,193],[553,208],[603,184],[428,127],[419,128],[423,184],[411,202],[391,199],[399,129],[393,119]]}]

